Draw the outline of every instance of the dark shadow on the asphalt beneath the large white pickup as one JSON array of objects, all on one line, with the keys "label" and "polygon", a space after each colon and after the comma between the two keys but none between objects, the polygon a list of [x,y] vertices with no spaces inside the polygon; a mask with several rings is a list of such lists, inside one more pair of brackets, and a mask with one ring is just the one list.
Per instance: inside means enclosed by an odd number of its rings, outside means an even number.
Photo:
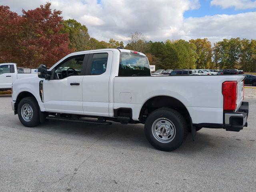
[{"label": "dark shadow on the asphalt beneath the large white pickup", "polygon": [[[19,122],[18,122],[19,123]],[[20,123],[19,123],[20,124]],[[33,134],[44,134],[47,140],[59,142],[59,144],[72,143],[85,148],[115,148],[126,150],[144,150],[154,153],[161,152],[153,148],[144,135],[144,125],[128,124],[123,125],[113,122],[111,126],[89,125],[78,122],[61,122],[50,120],[38,127],[27,128],[19,126],[21,129],[31,131]],[[175,154],[195,154],[207,150],[211,153],[220,153],[221,151],[232,152],[232,147],[236,147],[235,138],[226,138],[222,136],[224,130],[213,130],[203,128],[196,134],[196,141],[192,141],[191,133],[188,133],[186,140],[180,148],[172,151]],[[47,136],[48,135],[48,136]],[[56,141],[57,140],[57,141]],[[63,143],[64,142],[64,143]]]}]

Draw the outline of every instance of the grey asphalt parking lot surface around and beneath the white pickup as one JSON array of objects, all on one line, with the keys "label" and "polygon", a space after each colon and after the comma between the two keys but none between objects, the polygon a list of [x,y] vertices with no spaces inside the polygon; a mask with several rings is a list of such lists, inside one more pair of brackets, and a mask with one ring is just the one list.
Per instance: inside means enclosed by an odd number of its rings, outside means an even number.
[{"label": "grey asphalt parking lot surface around and beneath the white pickup", "polygon": [[243,191],[256,188],[256,89],[248,127],[203,128],[173,152],[154,149],[143,125],[49,121],[22,126],[0,96],[1,191]]}]

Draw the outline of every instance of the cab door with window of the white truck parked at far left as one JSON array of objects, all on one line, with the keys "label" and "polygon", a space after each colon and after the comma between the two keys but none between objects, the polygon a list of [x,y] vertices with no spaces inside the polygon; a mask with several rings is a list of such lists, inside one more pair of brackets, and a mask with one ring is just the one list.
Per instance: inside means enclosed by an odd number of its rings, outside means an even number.
[{"label": "cab door with window of the white truck parked at far left", "polygon": [[12,64],[0,65],[0,88],[11,88],[14,67]]}]

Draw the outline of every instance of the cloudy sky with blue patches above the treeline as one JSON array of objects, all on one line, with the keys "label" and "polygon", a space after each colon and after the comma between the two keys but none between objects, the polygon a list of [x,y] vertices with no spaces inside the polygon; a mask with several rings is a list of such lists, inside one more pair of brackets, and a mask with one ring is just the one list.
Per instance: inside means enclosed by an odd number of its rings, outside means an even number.
[{"label": "cloudy sky with blue patches above the treeline", "polygon": [[0,0],[21,14],[46,1],[88,27],[90,36],[126,42],[138,31],[149,40],[256,38],[255,0]]}]

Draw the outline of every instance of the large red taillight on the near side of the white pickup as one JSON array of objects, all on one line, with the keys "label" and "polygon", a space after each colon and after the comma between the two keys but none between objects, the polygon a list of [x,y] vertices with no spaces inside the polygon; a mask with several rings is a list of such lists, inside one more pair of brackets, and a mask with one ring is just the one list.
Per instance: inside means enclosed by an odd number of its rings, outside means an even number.
[{"label": "large red taillight on the near side of the white pickup", "polygon": [[222,83],[223,110],[236,110],[237,82],[225,81]]}]

